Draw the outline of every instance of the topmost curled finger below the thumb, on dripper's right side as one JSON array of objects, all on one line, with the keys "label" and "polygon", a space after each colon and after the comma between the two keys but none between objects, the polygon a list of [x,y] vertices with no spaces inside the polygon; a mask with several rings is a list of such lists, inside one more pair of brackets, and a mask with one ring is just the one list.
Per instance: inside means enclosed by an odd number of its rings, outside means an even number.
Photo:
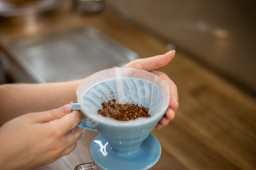
[{"label": "topmost curled finger below the thumb, on dripper's right side", "polygon": [[170,90],[170,108],[173,110],[178,109],[178,89],[172,80],[163,72],[151,71],[151,73],[156,74],[162,80],[167,80],[169,83]]}]

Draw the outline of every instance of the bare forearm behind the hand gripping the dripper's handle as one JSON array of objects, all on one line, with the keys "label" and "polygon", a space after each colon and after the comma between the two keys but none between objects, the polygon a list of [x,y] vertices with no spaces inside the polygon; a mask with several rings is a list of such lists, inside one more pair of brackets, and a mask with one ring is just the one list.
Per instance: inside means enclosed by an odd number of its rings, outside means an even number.
[{"label": "bare forearm behind the hand gripping the dripper's handle", "polygon": [[61,107],[69,101],[76,102],[75,91],[82,81],[1,85],[0,125],[29,112],[41,112]]}]

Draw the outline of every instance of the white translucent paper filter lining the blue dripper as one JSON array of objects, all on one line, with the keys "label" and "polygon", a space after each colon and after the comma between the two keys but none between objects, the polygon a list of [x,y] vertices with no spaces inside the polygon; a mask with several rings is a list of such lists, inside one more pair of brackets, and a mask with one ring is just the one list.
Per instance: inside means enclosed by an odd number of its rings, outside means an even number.
[{"label": "white translucent paper filter lining the blue dripper", "polygon": [[151,117],[165,112],[169,106],[170,91],[166,80],[151,72],[133,68],[106,69],[87,77],[77,89],[78,102],[83,112],[97,117],[99,121],[113,123],[140,123],[146,117],[135,120],[119,121],[97,114],[102,107],[102,100],[109,101],[110,96],[124,104],[127,101],[148,107]]}]

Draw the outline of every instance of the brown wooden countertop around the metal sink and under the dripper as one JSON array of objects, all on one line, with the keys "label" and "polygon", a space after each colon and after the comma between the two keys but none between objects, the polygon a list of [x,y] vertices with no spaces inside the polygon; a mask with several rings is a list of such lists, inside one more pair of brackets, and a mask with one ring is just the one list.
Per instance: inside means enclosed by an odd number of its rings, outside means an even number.
[{"label": "brown wooden countertop around the metal sink and under the dripper", "polygon": [[[27,25],[23,25],[24,20]],[[1,21],[0,50],[8,55],[10,44],[23,37],[83,26],[107,34],[138,53],[140,58],[167,52],[165,44],[108,9],[97,15],[80,15],[68,6],[48,17]],[[10,54],[8,57],[12,60]],[[256,169],[255,98],[195,63],[180,50],[176,58],[159,71],[176,83],[179,108],[173,121],[152,131],[162,146],[161,158],[153,169]],[[89,147],[97,134],[85,131],[73,152],[37,170],[74,169],[80,163],[90,162]]]}]

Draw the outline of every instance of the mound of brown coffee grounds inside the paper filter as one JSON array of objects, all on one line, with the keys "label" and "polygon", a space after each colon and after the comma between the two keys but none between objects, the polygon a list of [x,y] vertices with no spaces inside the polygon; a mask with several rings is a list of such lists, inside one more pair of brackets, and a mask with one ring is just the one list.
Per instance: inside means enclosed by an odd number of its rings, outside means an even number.
[{"label": "mound of brown coffee grounds inside the paper filter", "polygon": [[101,105],[102,108],[97,113],[116,120],[127,121],[137,119],[138,117],[151,117],[148,114],[148,108],[138,104],[130,104],[128,101],[126,104],[119,104],[115,98],[112,98],[108,102],[103,101]]}]

